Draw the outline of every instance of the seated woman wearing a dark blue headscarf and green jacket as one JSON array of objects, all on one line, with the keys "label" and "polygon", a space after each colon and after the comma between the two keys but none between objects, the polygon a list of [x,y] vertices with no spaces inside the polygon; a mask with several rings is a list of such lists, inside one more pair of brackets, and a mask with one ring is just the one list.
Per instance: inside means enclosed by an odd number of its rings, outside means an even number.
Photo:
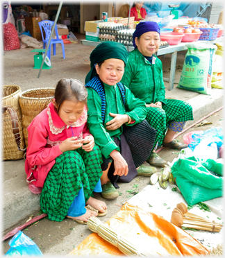
[{"label": "seated woman wearing a dark blue headscarf and green jacket", "polygon": [[[147,121],[157,130],[155,148],[181,150],[188,147],[174,139],[181,132],[185,121],[193,120],[192,107],[184,101],[166,99],[163,83],[163,65],[154,55],[160,46],[160,28],[156,22],[140,22],[133,33],[135,49],[129,53],[122,83],[136,98],[146,104]],[[167,164],[155,152],[147,160],[152,166]]]}]

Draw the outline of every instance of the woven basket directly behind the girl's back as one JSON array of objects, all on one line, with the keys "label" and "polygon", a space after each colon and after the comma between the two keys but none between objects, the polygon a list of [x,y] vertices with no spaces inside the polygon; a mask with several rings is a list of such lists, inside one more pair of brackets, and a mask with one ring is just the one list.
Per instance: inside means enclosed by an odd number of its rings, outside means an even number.
[{"label": "woven basket directly behind the girl's back", "polygon": [[33,119],[47,107],[55,96],[55,88],[28,89],[19,95],[25,144],[28,145],[27,128]]}]

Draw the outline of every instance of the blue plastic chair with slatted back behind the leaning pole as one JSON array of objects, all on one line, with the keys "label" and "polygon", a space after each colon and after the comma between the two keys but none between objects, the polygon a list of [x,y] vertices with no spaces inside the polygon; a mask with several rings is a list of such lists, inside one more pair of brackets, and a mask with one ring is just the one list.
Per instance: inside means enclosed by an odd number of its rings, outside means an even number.
[{"label": "blue plastic chair with slatted back behind the leaning pole", "polygon": [[[51,35],[51,27],[53,26],[53,24],[54,24],[54,22],[48,21],[48,20],[38,22],[38,25],[40,27],[40,31],[42,33],[43,49],[45,49],[45,46],[49,42],[49,38],[50,38],[50,35]],[[43,35],[43,30],[44,30],[44,33],[45,33],[45,37]],[[57,25],[55,26],[55,34],[56,34],[56,39],[51,39],[51,42],[49,44],[50,51],[48,51],[48,53],[47,53],[47,56],[49,57],[50,60],[51,60],[51,45],[53,46],[53,55],[56,55],[56,44],[57,43],[60,43],[62,45],[63,58],[65,58],[64,43],[63,43],[63,40],[60,40],[60,38],[58,37]]]}]

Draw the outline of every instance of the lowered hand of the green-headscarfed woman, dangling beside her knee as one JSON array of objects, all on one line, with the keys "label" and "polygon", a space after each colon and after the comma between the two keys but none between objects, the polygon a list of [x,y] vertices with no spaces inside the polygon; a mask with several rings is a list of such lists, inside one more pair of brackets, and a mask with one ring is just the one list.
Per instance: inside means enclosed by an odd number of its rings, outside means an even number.
[{"label": "lowered hand of the green-headscarfed woman, dangling beside her knee", "polygon": [[127,175],[128,174],[128,164],[126,160],[122,157],[118,150],[114,150],[110,156],[113,158],[115,171],[113,175]]}]

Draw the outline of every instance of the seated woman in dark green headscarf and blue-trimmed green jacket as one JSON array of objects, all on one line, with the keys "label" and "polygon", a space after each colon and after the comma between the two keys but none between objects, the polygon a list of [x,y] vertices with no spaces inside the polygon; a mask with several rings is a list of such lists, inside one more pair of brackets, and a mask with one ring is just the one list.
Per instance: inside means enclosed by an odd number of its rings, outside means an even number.
[{"label": "seated woman in dark green headscarf and blue-trimmed green jacket", "polygon": [[91,70],[85,78],[88,128],[103,155],[101,196],[108,199],[119,196],[117,180],[131,182],[136,175],[149,176],[157,171],[141,166],[153,149],[156,130],[144,120],[144,101],[119,83],[127,60],[123,44],[103,42],[92,51]]}]

